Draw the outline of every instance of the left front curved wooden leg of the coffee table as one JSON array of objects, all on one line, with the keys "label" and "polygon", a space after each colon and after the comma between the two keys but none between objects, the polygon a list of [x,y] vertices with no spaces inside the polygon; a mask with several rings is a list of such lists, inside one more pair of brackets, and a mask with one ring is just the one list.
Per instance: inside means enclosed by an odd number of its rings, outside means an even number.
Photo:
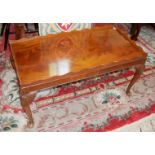
[{"label": "left front curved wooden leg of the coffee table", "polygon": [[35,97],[35,93],[21,95],[21,105],[28,117],[28,123],[27,123],[28,128],[32,128],[34,126],[34,120],[30,109],[30,103],[34,100],[34,97]]}]

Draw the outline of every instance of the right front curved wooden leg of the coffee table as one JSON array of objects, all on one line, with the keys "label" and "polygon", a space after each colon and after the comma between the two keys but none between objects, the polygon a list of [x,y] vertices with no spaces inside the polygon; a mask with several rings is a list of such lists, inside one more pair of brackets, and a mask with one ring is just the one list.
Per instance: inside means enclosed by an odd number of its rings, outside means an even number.
[{"label": "right front curved wooden leg of the coffee table", "polygon": [[140,78],[140,75],[143,73],[145,68],[145,64],[139,64],[135,67],[136,72],[132,78],[132,80],[130,81],[127,90],[126,90],[126,94],[129,95],[130,94],[130,89],[131,87],[135,84],[135,82]]}]

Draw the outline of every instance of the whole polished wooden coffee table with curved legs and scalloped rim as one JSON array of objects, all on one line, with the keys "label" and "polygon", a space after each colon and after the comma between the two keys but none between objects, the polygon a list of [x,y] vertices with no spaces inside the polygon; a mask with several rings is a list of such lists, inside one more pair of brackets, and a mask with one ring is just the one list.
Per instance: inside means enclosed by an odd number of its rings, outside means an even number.
[{"label": "whole polished wooden coffee table with curved legs and scalloped rim", "polygon": [[10,47],[28,127],[34,124],[29,105],[38,91],[135,66],[129,94],[147,56],[126,33],[112,26],[16,40]]}]

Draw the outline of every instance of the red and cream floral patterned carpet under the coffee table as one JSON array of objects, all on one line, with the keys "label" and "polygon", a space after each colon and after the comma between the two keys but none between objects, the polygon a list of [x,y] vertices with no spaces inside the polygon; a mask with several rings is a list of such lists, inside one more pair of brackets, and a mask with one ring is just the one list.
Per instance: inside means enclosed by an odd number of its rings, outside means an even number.
[{"label": "red and cream floral patterned carpet under the coffee table", "polygon": [[[129,24],[118,26],[129,31]],[[124,91],[134,68],[41,91],[31,104],[35,120],[32,129],[25,128],[26,116],[20,106],[16,74],[8,58],[9,49],[1,52],[0,131],[154,131],[154,36],[153,29],[143,27],[138,38],[137,44],[148,53],[148,59],[145,72],[132,88],[131,96],[126,96]],[[2,48],[3,40],[0,43]],[[139,119],[140,125],[136,122]]]}]

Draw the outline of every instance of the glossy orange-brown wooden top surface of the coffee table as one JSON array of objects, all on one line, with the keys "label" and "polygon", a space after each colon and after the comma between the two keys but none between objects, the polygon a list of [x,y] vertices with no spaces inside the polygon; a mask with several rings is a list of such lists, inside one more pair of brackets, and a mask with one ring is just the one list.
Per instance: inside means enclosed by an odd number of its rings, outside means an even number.
[{"label": "glossy orange-brown wooden top surface of the coffee table", "polygon": [[96,28],[11,44],[21,85],[145,56],[113,29]]}]

